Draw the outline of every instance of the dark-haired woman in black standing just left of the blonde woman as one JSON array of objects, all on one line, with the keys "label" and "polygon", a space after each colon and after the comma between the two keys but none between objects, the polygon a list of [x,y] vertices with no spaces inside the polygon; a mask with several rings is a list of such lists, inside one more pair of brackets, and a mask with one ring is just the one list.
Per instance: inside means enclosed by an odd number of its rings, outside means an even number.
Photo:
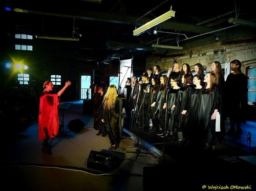
[{"label": "dark-haired woman in black standing just left of the blonde woman", "polygon": [[[103,129],[101,126],[101,109],[103,101],[103,90],[101,85],[96,85],[93,93],[93,128],[99,131],[96,135],[102,134]],[[102,134],[102,136],[104,133]]]}]

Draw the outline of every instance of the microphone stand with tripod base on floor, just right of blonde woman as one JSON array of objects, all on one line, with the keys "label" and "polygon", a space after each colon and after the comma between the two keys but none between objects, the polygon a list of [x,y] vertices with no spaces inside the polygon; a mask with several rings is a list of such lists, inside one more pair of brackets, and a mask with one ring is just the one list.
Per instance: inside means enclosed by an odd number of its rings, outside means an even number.
[{"label": "microphone stand with tripod base on floor, just right of blonde woman", "polygon": [[[147,88],[146,88],[146,89],[147,89]],[[140,93],[140,91],[139,91],[139,93]],[[140,104],[140,108],[139,108],[139,110],[138,110],[138,112],[137,112],[138,100],[139,100],[139,96],[138,96],[137,103],[136,103],[136,106],[135,106],[135,112],[134,112],[134,115],[133,115],[133,121],[134,121],[134,116],[135,116],[135,123],[134,123],[134,124],[135,124],[135,128],[136,128],[136,139],[137,139],[137,142],[134,144],[134,147],[137,147],[137,149],[136,149],[135,152],[126,151],[126,153],[137,153],[135,160],[137,160],[139,154],[147,154],[147,152],[146,152],[146,153],[141,152],[142,144],[139,144],[139,127],[136,127],[136,124],[138,123],[139,112],[140,112],[140,110],[141,110],[142,104],[144,104],[144,100],[145,100],[146,94],[147,94],[147,92],[145,93],[145,95],[144,95],[144,97],[143,97],[143,100],[142,100],[142,102],[141,102],[141,104]],[[137,122],[137,123],[136,123],[136,122]],[[138,123],[138,124],[139,124],[139,123]],[[142,125],[143,125],[143,124],[142,124]],[[130,148],[133,148],[133,147],[130,147]],[[126,149],[129,149],[129,148],[126,148]]]}]

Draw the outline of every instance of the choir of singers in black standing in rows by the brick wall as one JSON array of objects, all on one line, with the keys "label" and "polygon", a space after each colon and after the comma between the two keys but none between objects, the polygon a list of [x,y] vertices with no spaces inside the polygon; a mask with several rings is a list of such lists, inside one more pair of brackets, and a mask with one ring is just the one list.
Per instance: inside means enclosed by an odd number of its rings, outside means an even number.
[{"label": "choir of singers in black standing in rows by the brick wall", "polygon": [[193,76],[189,64],[183,64],[180,71],[175,63],[163,72],[155,65],[154,74],[148,68],[139,80],[136,76],[127,79],[125,110],[132,111],[135,126],[144,131],[215,151],[226,134],[225,118],[229,117],[231,125],[227,135],[234,133],[234,124],[235,135],[242,134],[247,79],[239,60],[230,62],[233,73],[226,82],[218,61],[212,62],[206,74],[202,64],[194,68],[197,74]]}]

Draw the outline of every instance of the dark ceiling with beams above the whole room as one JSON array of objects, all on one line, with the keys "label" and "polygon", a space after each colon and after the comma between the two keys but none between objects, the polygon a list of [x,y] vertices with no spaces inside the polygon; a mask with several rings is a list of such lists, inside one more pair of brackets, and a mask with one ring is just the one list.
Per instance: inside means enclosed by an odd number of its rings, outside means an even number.
[{"label": "dark ceiling with beams above the whole room", "polygon": [[[135,27],[164,14],[171,6],[175,17],[159,24],[157,34],[153,34],[152,28],[133,35]],[[181,46],[196,39],[218,36],[236,28],[228,22],[229,18],[253,20],[253,9],[248,0],[74,0],[59,4],[58,1],[8,1],[1,10],[1,19],[7,41],[13,39],[15,33],[77,37],[79,41],[35,39],[35,43],[44,45],[40,51],[45,54],[108,62],[129,54],[139,57],[157,53],[152,47],[156,43]]]}]

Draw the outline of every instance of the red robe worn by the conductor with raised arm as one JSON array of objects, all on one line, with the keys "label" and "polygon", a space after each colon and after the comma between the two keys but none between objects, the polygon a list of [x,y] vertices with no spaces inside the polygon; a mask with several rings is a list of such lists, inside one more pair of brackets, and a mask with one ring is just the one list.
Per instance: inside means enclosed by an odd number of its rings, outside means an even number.
[{"label": "red robe worn by the conductor with raised arm", "polygon": [[57,93],[43,91],[40,94],[38,115],[38,139],[53,139],[59,130],[59,97]]}]

